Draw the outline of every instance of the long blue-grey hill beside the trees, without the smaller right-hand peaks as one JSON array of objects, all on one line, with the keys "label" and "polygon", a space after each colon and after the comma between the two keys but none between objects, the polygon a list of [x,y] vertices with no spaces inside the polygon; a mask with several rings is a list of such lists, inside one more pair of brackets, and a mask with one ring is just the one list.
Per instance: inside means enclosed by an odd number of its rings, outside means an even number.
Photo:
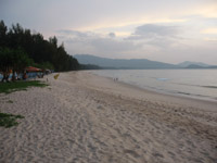
[{"label": "long blue-grey hill beside the trees, without the smaller right-hand peaks", "polygon": [[89,54],[74,55],[81,64],[99,65],[103,68],[130,68],[130,70],[146,70],[146,68],[178,68],[177,65],[150,61],[146,59],[106,59]]}]

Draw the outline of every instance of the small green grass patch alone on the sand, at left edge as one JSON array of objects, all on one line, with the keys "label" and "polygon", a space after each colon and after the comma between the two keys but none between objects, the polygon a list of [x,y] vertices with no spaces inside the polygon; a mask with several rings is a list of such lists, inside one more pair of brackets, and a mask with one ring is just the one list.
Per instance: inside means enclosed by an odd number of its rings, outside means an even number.
[{"label": "small green grass patch alone on the sand, at left edge", "polygon": [[17,126],[18,125],[18,122],[16,122],[17,118],[24,118],[24,116],[0,113],[0,126],[5,128]]}]

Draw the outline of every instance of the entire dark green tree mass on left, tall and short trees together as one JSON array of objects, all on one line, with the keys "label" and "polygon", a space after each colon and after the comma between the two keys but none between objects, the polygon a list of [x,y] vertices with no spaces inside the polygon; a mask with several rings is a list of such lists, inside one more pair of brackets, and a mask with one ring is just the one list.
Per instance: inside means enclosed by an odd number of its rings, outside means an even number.
[{"label": "entire dark green tree mass on left, tall and short trees together", "polygon": [[46,40],[41,34],[33,34],[20,24],[8,28],[0,21],[0,72],[21,72],[27,65],[56,72],[79,68],[78,61],[65,51],[63,43],[58,45],[55,36]]}]

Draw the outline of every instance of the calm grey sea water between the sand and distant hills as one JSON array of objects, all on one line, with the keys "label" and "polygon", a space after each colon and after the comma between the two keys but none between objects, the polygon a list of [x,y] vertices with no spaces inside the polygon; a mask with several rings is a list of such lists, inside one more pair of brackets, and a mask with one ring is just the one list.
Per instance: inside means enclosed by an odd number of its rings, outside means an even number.
[{"label": "calm grey sea water between the sand and distant hills", "polygon": [[91,72],[157,92],[217,101],[217,70],[102,70]]}]

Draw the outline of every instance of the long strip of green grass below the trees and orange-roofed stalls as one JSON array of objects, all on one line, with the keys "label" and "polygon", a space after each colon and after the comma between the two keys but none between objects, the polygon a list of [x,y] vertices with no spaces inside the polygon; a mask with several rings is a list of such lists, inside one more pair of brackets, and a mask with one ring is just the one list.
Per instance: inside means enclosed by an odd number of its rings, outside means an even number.
[{"label": "long strip of green grass below the trees and orange-roofed stalls", "polygon": [[48,85],[39,80],[0,83],[0,93],[10,93],[18,90],[27,90],[28,87],[46,87],[46,86]]}]

